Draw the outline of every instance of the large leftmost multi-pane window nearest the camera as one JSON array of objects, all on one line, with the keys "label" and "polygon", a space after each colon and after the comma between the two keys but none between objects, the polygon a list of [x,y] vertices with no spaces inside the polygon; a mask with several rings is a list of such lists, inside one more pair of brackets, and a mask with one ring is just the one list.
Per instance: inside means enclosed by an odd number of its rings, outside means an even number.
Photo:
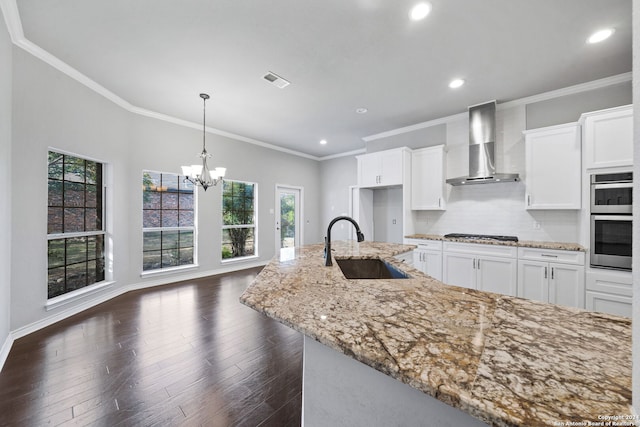
[{"label": "large leftmost multi-pane window nearest the camera", "polygon": [[48,153],[48,298],[105,279],[103,164]]}]

